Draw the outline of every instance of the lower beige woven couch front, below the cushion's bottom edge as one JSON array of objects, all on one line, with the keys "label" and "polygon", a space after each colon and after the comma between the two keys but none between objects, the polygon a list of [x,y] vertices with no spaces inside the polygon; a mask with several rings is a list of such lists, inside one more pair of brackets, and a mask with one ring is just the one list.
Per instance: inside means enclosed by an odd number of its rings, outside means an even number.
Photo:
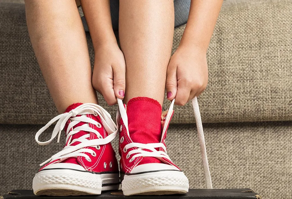
[{"label": "lower beige woven couch front, below the cushion's bottom edge", "polygon": [[[0,125],[0,195],[11,189],[32,189],[42,163],[64,145],[55,139],[40,146],[34,135],[41,125]],[[51,137],[50,127],[40,140]],[[204,124],[214,188],[250,188],[263,198],[292,198],[291,122]],[[9,136],[8,136],[9,135]],[[186,174],[191,188],[206,188],[194,124],[171,125],[168,154]],[[117,152],[118,138],[113,142]],[[119,157],[117,157],[119,158]]]}]

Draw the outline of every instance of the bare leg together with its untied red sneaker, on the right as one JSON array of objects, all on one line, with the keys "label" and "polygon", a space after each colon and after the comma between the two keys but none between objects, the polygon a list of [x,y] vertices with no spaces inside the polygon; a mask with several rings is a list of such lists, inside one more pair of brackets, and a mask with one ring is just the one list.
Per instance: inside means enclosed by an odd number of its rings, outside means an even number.
[{"label": "bare leg together with its untied red sneaker, on the right", "polygon": [[161,105],[174,30],[173,0],[120,1],[119,14],[127,103],[126,110],[120,106],[121,189],[126,196],[186,193],[187,177],[165,153],[172,110],[165,117],[164,130],[161,129],[165,115]]}]

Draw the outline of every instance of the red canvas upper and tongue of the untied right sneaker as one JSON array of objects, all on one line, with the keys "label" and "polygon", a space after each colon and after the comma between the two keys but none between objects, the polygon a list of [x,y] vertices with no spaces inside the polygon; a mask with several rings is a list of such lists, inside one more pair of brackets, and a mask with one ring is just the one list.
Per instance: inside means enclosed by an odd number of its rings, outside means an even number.
[{"label": "red canvas upper and tongue of the untied right sneaker", "polygon": [[[129,162],[131,158],[126,158],[126,154],[134,148],[130,148],[124,152],[124,147],[132,142],[135,143],[163,143],[165,145],[166,133],[163,138],[162,129],[167,112],[162,113],[162,107],[159,102],[149,97],[135,97],[129,100],[126,106],[126,113],[128,117],[129,136],[126,132],[126,127],[123,120],[120,120],[121,132],[119,134],[119,154],[121,155],[120,166],[124,173],[131,172],[131,170],[140,164],[147,163],[166,163],[172,164],[164,158],[157,157],[137,157],[134,161]],[[121,137],[124,141],[121,143]],[[144,149],[147,150],[147,149]],[[157,150],[163,150],[162,148]],[[133,154],[134,155],[134,154]],[[131,155],[131,157],[133,156]]]}]

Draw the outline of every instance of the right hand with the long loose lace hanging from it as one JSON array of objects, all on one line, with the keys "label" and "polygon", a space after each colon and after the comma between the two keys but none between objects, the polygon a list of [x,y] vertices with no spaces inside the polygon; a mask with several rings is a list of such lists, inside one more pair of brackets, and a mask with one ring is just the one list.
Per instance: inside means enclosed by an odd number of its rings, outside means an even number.
[{"label": "right hand with the long loose lace hanging from it", "polygon": [[206,51],[196,47],[179,46],[171,57],[166,74],[167,99],[185,105],[199,96],[208,83]]}]

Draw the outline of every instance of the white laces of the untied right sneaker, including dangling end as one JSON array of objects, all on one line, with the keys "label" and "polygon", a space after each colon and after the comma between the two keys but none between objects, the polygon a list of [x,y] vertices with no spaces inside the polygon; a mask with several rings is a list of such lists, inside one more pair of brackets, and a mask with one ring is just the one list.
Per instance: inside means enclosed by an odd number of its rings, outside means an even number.
[{"label": "white laces of the untied right sneaker, including dangling end", "polygon": [[[123,119],[124,125],[126,127],[126,131],[129,135],[129,129],[128,129],[128,116],[126,114],[126,109],[124,107],[124,104],[121,99],[118,99],[118,104],[119,104],[119,111],[117,114],[117,124],[119,121],[119,117]],[[171,115],[173,113],[173,105],[174,105],[174,99],[171,102],[171,105],[168,109],[168,113],[166,115],[166,119],[164,122],[164,128],[162,131],[162,137],[164,136],[166,132],[166,128],[168,126],[168,123],[170,122]],[[207,184],[207,189],[212,189],[212,180],[211,180],[211,175],[210,175],[210,169],[209,169],[209,164],[208,164],[208,158],[207,158],[207,152],[206,152],[206,144],[205,144],[205,137],[204,137],[204,131],[203,131],[203,126],[202,126],[202,120],[201,120],[201,114],[199,110],[199,104],[197,97],[192,99],[192,106],[194,109],[194,115],[196,118],[196,125],[197,125],[197,132],[198,132],[198,137],[199,137],[199,144],[201,148],[201,155],[202,155],[202,163],[203,163],[203,168],[204,168],[204,174],[206,178],[206,184]],[[124,148],[124,152],[127,152],[129,148],[136,147],[138,149],[134,149],[127,154],[127,158],[130,157],[131,154],[137,153],[133,155],[133,157],[130,159],[130,162],[133,161],[136,157],[159,157],[159,158],[166,158],[171,161],[169,156],[166,154],[166,148],[163,143],[148,143],[148,144],[141,144],[141,143],[130,143],[127,144]],[[165,152],[163,151],[157,151],[155,148],[160,148],[162,147]],[[145,151],[142,149],[147,149],[149,151]]]}]

